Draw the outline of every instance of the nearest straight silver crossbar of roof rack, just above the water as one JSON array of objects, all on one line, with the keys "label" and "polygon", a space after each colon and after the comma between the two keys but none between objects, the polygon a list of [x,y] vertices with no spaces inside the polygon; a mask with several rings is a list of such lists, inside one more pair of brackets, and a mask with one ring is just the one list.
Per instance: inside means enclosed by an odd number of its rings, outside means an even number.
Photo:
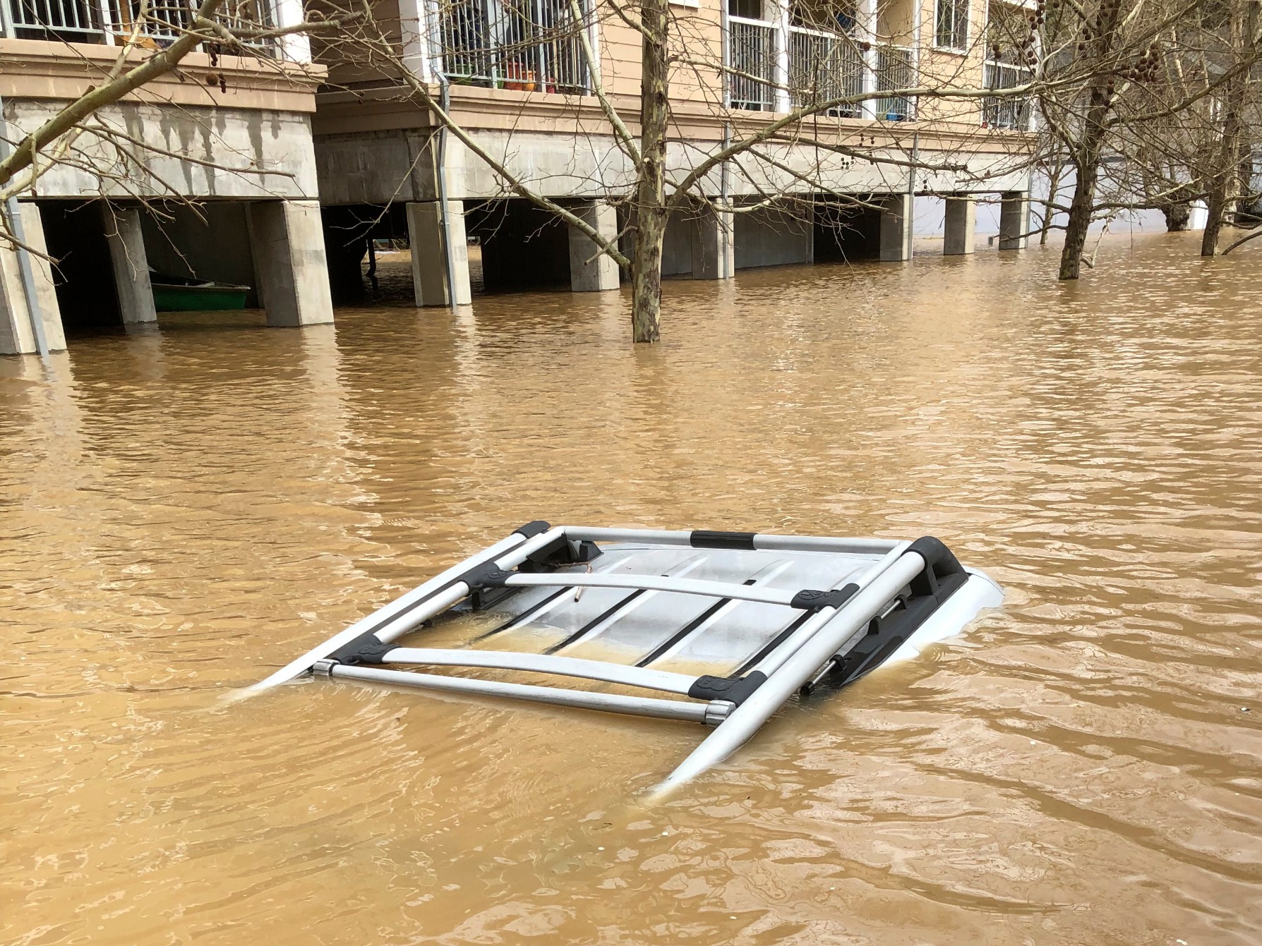
[{"label": "nearest straight silver crossbar of roof rack, just above the water", "polygon": [[327,661],[322,662],[318,669],[327,670],[328,676],[333,679],[365,680],[394,686],[413,686],[420,690],[507,696],[530,703],[546,703],[554,706],[575,706],[578,709],[626,713],[635,716],[656,716],[659,719],[681,719],[689,723],[713,724],[721,720],[729,708],[729,704],[722,701],[712,705],[685,700],[660,700],[650,696],[622,696],[620,694],[592,692],[589,690],[562,690],[559,687],[535,686],[533,684],[505,684],[497,680],[469,680],[458,676],[438,676],[437,674],[414,674],[406,670],[353,667]]}]

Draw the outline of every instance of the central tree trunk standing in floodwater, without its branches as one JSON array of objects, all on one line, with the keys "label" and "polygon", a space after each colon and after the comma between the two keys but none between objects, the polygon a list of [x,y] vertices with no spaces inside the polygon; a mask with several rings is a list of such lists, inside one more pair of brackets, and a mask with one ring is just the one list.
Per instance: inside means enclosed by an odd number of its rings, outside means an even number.
[{"label": "central tree trunk standing in floodwater, without its branches", "polygon": [[636,184],[635,256],[631,260],[631,333],[661,337],[661,246],[666,236],[666,129],[670,121],[669,0],[641,0],[640,179]]}]

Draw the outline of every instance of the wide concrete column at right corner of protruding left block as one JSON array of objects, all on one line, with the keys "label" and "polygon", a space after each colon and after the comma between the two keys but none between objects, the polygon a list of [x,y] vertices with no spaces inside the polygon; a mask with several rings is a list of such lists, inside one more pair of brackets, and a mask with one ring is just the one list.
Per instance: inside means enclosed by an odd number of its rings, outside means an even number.
[{"label": "wide concrete column at right corner of protruding left block", "polygon": [[317,201],[250,204],[250,254],[268,324],[323,325],[333,320]]}]

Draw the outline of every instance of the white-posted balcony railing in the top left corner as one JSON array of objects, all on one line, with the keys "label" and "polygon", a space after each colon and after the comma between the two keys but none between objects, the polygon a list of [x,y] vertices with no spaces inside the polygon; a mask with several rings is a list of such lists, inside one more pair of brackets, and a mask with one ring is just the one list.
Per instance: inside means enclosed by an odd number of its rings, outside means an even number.
[{"label": "white-posted balcony railing in the top left corner", "polygon": [[[114,45],[139,21],[140,35],[169,45],[192,29],[199,4],[191,0],[0,0],[4,35],[16,39],[61,39],[69,43]],[[274,24],[269,0],[225,0],[217,19],[230,30],[266,29]],[[275,54],[270,39],[242,40],[242,45]]]}]

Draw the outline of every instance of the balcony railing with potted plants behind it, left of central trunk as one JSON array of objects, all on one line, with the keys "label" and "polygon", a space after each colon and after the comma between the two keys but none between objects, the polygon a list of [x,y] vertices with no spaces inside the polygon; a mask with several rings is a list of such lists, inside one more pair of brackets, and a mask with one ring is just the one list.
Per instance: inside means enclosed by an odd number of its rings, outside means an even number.
[{"label": "balcony railing with potted plants behind it, left of central trunk", "polygon": [[442,68],[459,85],[583,95],[581,29],[569,0],[444,0]]}]

